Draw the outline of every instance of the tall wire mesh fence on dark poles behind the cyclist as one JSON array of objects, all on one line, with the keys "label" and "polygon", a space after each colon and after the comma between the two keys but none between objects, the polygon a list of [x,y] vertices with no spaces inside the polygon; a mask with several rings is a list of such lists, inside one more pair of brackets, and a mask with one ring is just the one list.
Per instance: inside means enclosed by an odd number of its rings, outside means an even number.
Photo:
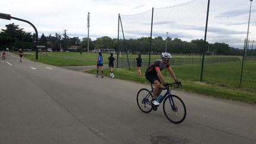
[{"label": "tall wire mesh fence on dark poles behind the cyclist", "polygon": [[[248,28],[250,4],[252,11]],[[146,66],[155,61],[151,55],[159,55],[161,52],[169,52],[172,55],[201,56],[205,50],[206,54],[215,55],[215,57],[205,57],[203,81],[217,83],[215,79],[222,79],[224,84],[237,87],[243,78],[242,66],[245,71],[248,71],[251,68],[247,63],[256,59],[254,41],[256,38],[256,3],[241,0],[210,1],[205,44],[206,14],[207,1],[194,0],[171,7],[152,8],[140,14],[120,15],[119,51],[148,54],[149,58],[143,59],[143,65]],[[247,33],[248,44],[245,44]],[[242,60],[244,48],[245,62]],[[128,60],[130,66],[136,66],[135,58],[129,56],[126,60],[119,58],[119,66],[127,66]],[[198,66],[201,62],[201,57],[184,57],[174,58],[170,63],[171,65]],[[226,66],[218,69],[218,64]],[[212,66],[216,66],[216,78],[210,74],[213,71],[210,69]],[[198,69],[195,71],[200,75]],[[232,75],[223,75],[227,72],[232,72]],[[256,82],[256,80],[249,79],[253,75],[253,73],[246,73],[247,79],[244,83]],[[194,80],[199,81],[199,79]],[[228,81],[232,81],[233,84]]]}]

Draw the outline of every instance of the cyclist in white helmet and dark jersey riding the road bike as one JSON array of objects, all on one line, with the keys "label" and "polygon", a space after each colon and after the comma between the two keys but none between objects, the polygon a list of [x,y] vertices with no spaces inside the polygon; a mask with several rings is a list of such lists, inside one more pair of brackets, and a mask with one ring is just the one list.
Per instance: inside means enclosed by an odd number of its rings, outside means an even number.
[{"label": "cyclist in white helmet and dark jersey riding the road bike", "polygon": [[151,84],[154,85],[153,88],[153,97],[151,100],[151,103],[154,105],[159,105],[159,102],[156,100],[156,97],[161,94],[161,84],[164,85],[164,87],[167,86],[167,83],[165,83],[164,76],[162,76],[161,71],[164,68],[167,68],[169,73],[171,74],[172,78],[177,84],[181,84],[175,76],[174,71],[172,71],[171,66],[169,66],[169,59],[171,59],[171,55],[169,53],[162,53],[161,55],[162,60],[156,60],[147,70],[145,73],[146,79],[148,79]]}]

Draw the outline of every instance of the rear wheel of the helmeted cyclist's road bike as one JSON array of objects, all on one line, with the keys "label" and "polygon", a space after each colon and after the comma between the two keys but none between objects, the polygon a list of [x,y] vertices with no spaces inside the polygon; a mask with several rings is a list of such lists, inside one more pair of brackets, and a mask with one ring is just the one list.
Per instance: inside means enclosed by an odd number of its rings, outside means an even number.
[{"label": "rear wheel of the helmeted cyclist's road bike", "polygon": [[151,104],[152,94],[146,88],[142,88],[137,92],[137,105],[144,113],[152,111],[153,107]]}]

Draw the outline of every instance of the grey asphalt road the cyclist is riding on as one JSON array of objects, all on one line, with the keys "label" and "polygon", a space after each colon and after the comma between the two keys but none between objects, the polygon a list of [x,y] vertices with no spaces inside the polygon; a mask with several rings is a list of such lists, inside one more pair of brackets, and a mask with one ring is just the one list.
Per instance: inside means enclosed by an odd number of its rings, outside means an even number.
[{"label": "grey asphalt road the cyclist is riding on", "polygon": [[0,143],[256,143],[256,105],[183,91],[181,124],[162,107],[142,113],[149,85],[94,75],[8,55],[0,61]]}]

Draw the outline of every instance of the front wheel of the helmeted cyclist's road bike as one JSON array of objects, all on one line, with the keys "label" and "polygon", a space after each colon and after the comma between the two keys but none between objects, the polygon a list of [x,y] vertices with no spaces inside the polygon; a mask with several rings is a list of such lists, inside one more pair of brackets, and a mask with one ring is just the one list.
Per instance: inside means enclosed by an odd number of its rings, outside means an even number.
[{"label": "front wheel of the helmeted cyclist's road bike", "polygon": [[[173,103],[171,101],[171,97]],[[185,120],[187,110],[183,100],[177,95],[171,95],[171,97],[166,97],[163,104],[164,114],[169,121],[178,124]],[[172,104],[171,104],[172,103]]]}]

